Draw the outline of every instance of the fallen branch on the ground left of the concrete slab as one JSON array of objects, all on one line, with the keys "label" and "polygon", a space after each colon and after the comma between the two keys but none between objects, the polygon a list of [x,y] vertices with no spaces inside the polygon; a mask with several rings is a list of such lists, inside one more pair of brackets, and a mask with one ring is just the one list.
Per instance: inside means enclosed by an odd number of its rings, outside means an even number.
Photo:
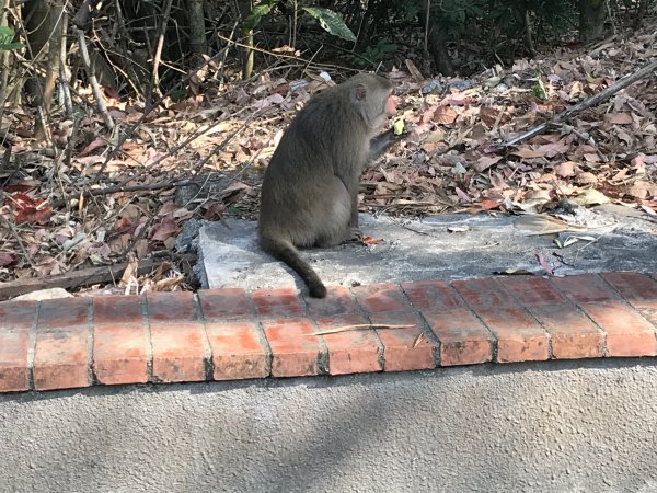
[{"label": "fallen branch on the ground left of the concrete slab", "polygon": [[[175,255],[175,260],[194,262],[196,261],[196,255]],[[149,274],[155,268],[158,268],[161,264],[169,261],[170,257],[147,259],[145,261],[139,262],[136,273],[139,276],[143,274]],[[27,293],[37,291],[39,289],[47,289],[54,287],[60,287],[64,289],[74,289],[81,286],[112,283],[115,279],[120,278],[128,265],[129,263],[126,262],[115,265],[103,265],[101,267],[91,267],[83,268],[80,271],[67,272],[66,274],[60,274],[57,276],[19,279],[10,280],[8,283],[0,283],[0,301],[13,298],[19,295],[25,295]]]}]

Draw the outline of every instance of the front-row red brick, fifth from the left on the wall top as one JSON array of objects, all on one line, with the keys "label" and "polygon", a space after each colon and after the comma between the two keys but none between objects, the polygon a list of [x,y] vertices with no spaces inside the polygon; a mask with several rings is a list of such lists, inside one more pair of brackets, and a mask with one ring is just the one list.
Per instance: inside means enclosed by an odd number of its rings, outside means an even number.
[{"label": "front-row red brick, fifth from the left on the wall top", "polygon": [[212,348],[215,380],[268,376],[268,352],[253,322],[208,323],[206,332]]}]

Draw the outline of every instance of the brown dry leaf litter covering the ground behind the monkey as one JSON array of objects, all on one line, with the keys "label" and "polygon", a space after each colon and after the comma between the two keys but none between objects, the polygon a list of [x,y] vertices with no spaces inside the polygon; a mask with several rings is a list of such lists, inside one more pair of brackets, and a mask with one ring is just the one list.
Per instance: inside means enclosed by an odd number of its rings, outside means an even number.
[{"label": "brown dry leaf litter covering the ground behind the monkey", "polygon": [[[563,48],[508,69],[493,67],[468,83],[420,80],[406,71],[412,64],[384,73],[394,81],[395,119],[404,119],[407,134],[365,170],[360,209],[394,216],[527,214],[519,220],[539,234],[586,229],[553,215],[564,200],[580,207],[612,203],[654,218],[654,74],[569,122],[505,144],[648,64],[657,48],[655,27],[586,51]],[[74,136],[73,122],[54,118],[53,152],[31,138],[27,110],[5,108],[14,165],[0,164],[0,282],[125,263],[123,277],[87,294],[193,288],[188,259],[172,253],[183,223],[254,219],[263,172],[283,130],[314,92],[333,83],[327,79],[310,71],[301,80],[263,72],[218,84],[199,76],[195,95],[165,99],[146,115],[141,105],[114,100],[111,114],[126,129],[141,123],[114,149],[116,136],[99,115],[87,114],[70,159],[62,148]],[[550,273],[542,254],[534,254]],[[153,257],[162,263],[137,275],[138,263]]]}]

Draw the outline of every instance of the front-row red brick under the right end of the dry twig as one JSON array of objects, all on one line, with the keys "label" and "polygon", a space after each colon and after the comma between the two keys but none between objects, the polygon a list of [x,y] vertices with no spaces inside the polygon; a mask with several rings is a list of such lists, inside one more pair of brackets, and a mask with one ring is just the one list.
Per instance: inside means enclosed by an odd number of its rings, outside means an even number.
[{"label": "front-row red brick under the right end of the dry twig", "polygon": [[[384,371],[405,371],[436,367],[434,344],[423,331],[423,321],[414,313],[377,313],[372,323],[413,325],[408,329],[377,329],[383,344]],[[422,335],[420,335],[422,333]]]}]

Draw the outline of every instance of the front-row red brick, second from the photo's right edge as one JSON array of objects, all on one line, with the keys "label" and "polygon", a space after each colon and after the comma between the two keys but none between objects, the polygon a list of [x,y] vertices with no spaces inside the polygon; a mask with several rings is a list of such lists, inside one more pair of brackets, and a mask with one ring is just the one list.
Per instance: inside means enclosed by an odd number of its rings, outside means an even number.
[{"label": "front-row red brick, second from the photo's right edge", "polygon": [[570,303],[542,305],[529,311],[552,335],[552,355],[558,359],[599,358],[604,333]]}]

